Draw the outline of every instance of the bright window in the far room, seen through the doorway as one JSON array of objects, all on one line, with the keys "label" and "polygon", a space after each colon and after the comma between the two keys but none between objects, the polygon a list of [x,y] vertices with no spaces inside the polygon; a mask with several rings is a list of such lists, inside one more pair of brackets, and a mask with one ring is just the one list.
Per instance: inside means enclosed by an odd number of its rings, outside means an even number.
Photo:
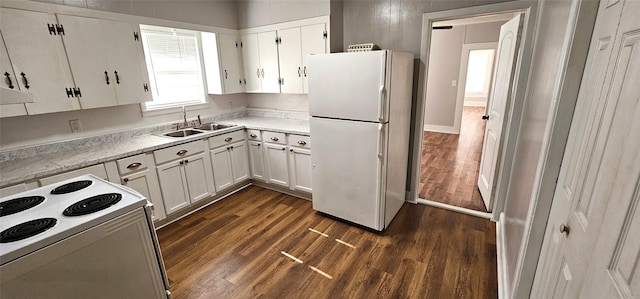
[{"label": "bright window in the far room, seen through the doorway", "polygon": [[467,95],[486,95],[489,93],[494,50],[469,51],[467,83],[464,92]]}]

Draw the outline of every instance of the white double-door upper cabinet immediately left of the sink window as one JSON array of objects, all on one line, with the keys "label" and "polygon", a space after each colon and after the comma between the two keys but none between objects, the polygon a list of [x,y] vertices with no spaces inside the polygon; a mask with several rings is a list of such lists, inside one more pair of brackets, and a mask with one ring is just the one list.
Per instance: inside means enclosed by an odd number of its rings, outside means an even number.
[{"label": "white double-door upper cabinet immediately left of the sink window", "polygon": [[68,15],[58,21],[83,109],[151,100],[136,25]]}]

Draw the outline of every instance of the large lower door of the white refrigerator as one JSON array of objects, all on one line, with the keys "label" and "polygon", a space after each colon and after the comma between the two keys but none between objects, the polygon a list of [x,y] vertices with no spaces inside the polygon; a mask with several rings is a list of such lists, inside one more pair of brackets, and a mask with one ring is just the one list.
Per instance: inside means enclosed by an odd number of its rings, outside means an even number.
[{"label": "large lower door of the white refrigerator", "polygon": [[384,228],[386,124],[312,118],[313,208],[369,228]]}]

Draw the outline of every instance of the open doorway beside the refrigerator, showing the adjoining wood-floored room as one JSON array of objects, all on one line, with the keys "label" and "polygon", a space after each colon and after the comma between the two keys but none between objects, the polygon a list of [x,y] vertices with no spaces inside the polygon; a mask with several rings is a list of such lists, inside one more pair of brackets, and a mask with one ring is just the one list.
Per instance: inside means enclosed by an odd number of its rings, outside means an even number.
[{"label": "open doorway beside the refrigerator, showing the adjoining wood-floored room", "polygon": [[483,116],[500,29],[513,17],[509,12],[432,23],[418,202],[491,216],[477,186]]}]

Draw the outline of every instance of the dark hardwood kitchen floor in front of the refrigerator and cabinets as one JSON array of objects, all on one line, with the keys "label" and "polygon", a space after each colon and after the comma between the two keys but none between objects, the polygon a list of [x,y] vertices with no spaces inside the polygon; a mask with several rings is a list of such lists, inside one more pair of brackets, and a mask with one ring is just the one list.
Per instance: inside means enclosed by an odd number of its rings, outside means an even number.
[{"label": "dark hardwood kitchen floor in front of the refrigerator and cabinets", "polygon": [[495,225],[424,205],[376,233],[251,186],[158,237],[176,299],[497,298]]}]

